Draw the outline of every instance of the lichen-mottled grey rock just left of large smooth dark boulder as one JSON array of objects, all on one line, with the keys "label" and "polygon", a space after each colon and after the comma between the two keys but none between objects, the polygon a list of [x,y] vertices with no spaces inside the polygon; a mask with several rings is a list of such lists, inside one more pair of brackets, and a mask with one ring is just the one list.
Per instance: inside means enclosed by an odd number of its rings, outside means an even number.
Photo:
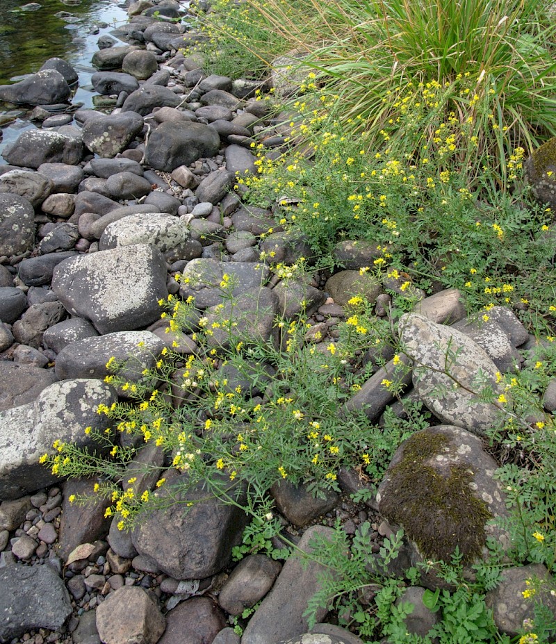
[{"label": "lichen-mottled grey rock just left of large smooth dark boulder", "polygon": [[136,138],[143,128],[140,115],[129,112],[90,119],[83,126],[83,143],[104,158],[113,158]]}]

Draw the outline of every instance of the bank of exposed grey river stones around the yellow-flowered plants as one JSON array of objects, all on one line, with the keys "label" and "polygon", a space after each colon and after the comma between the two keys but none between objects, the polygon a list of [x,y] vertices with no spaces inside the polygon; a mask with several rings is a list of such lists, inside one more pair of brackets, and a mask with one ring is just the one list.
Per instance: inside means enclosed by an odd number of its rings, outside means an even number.
[{"label": "bank of exposed grey river stones around the yellow-flowered plants", "polygon": [[[307,630],[303,613],[319,566],[302,568],[296,558],[281,565],[263,554],[232,563],[231,547],[247,522],[240,509],[215,499],[186,515],[174,506],[126,534],[105,516],[108,504],[70,502],[92,493],[98,481],[61,481],[40,463],[54,440],[87,445],[85,427],[101,429],[99,404],[117,399],[104,383],[111,356],[139,354],[141,343],[140,357],[152,367],[165,348],[177,345],[183,356],[199,351],[193,333],[166,333],[158,302],[169,294],[193,297],[210,317],[221,301],[218,285],[229,274],[236,306],[254,332],[270,338],[277,315],[293,319],[305,309],[312,324],[306,340],[326,353],[352,296],[376,302],[377,315],[386,317],[385,289],[400,288],[365,272],[377,251],[357,240],[338,244],[343,270],[334,274],[291,279],[287,286],[271,276],[264,258],[290,265],[310,258],[311,249],[284,233],[271,209],[245,206],[234,184],[238,174],[256,172],[254,145],[262,143],[269,156],[284,151],[289,117],[270,112],[263,99],[268,81],[207,76],[198,56],[180,52],[203,38],[172,22],[187,11],[175,0],[138,0],[128,8],[129,23],[117,29],[120,42],[99,39],[92,85],[103,111],[75,110],[68,102],[76,74],[60,59],[0,87],[0,99],[34,106],[32,117],[41,124],[3,151],[8,165],[0,166],[2,642],[237,644],[232,626],[238,616],[243,644],[293,643]],[[279,81],[275,85],[279,92]],[[178,273],[188,281],[178,283]],[[502,395],[499,374],[530,358],[537,340],[509,308],[493,308],[479,325],[466,319],[457,291],[423,296],[395,324],[410,358],[422,365],[412,374],[400,370],[406,395],[423,401],[438,421],[418,434],[430,453],[418,456],[414,479],[400,463],[407,457],[416,463],[416,448],[404,443],[367,504],[349,499],[363,487],[354,470],[338,473],[343,495],[331,493],[324,501],[278,486],[273,494],[284,536],[300,550],[310,550],[313,534],[329,535],[339,519],[348,535],[370,522],[377,553],[391,526],[412,525],[404,490],[417,493],[431,470],[450,479],[451,468],[464,467],[473,480],[460,490],[465,508],[450,515],[448,530],[443,500],[427,497],[429,488],[422,486],[416,503],[425,507],[428,525],[414,528],[407,561],[422,559],[423,540],[444,543],[446,531],[457,534],[464,552],[466,545],[480,552],[482,526],[468,518],[477,499],[489,516],[507,515],[493,477],[496,461],[480,440],[503,410],[477,402],[470,390],[482,370]],[[457,379],[443,373],[449,350],[457,355]],[[383,357],[386,366],[377,365],[347,403],[364,409],[371,422],[398,405],[385,382],[395,377],[400,358]],[[554,389],[543,399],[547,414],[556,408]],[[165,463],[150,444],[139,461]],[[507,541],[498,528],[486,532]],[[525,580],[546,574],[539,565],[505,572],[506,581],[491,593],[500,630],[518,633],[532,614],[523,602]],[[436,617],[418,590],[411,589],[417,609],[408,629],[425,634]],[[250,620],[241,620],[261,600]],[[318,620],[327,619],[334,622],[334,615],[327,618],[323,608]],[[360,642],[334,623],[317,625],[313,634],[319,636],[311,644]]]}]

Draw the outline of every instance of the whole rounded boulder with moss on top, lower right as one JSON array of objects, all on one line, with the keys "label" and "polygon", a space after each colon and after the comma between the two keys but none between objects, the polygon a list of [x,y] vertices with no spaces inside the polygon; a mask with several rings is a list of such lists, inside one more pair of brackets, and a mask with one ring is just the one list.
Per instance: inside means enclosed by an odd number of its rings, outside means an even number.
[{"label": "whole rounded boulder with moss on top, lower right", "polygon": [[464,564],[486,554],[486,537],[509,545],[489,520],[506,517],[504,493],[493,478],[496,461],[480,438],[453,425],[416,431],[395,452],[379,487],[380,513],[400,526],[414,563],[450,561],[456,547]]}]

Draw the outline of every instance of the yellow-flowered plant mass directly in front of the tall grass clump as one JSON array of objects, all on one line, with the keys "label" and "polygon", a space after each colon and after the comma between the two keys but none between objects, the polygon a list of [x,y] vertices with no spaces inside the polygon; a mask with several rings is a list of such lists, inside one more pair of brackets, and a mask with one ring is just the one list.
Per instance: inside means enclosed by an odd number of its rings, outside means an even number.
[{"label": "yellow-flowered plant mass directly in front of the tall grass clump", "polygon": [[[370,268],[382,276],[409,274],[427,292],[432,284],[459,288],[470,311],[484,308],[488,317],[496,304],[511,306],[532,328],[548,329],[554,213],[523,183],[523,147],[508,154],[505,176],[484,165],[488,156],[473,174],[480,138],[489,135],[477,113],[502,145],[510,143],[491,112],[496,94],[474,94],[475,80],[462,75],[449,87],[410,82],[391,92],[387,100],[399,116],[370,151],[364,133],[352,138],[336,118],[341,101],[321,94],[317,109],[310,96],[298,99],[292,139],[311,142],[312,158],[294,147],[272,160],[259,149],[259,174],[238,180],[248,190],[244,199],[273,204],[280,224],[332,263],[337,242],[368,241],[377,249]],[[448,105],[455,93],[458,113]]]}]

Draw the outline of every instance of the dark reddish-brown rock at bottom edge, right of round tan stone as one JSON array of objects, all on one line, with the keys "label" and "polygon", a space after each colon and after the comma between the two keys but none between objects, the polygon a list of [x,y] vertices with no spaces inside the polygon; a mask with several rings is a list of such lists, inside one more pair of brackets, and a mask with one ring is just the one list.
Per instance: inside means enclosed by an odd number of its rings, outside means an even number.
[{"label": "dark reddish-brown rock at bottom edge, right of round tan stone", "polygon": [[193,597],[166,613],[166,630],[158,644],[206,644],[226,623],[216,602],[208,597]]}]

